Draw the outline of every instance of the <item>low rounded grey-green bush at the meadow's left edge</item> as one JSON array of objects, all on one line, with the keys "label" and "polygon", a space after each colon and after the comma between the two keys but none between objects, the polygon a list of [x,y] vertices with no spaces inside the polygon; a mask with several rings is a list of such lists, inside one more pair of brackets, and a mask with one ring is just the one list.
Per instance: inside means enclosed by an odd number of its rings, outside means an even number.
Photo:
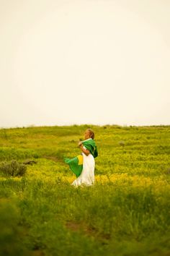
[{"label": "low rounded grey-green bush at the meadow's left edge", "polygon": [[0,172],[6,176],[23,176],[27,166],[22,163],[18,163],[16,160],[10,162],[3,162],[0,166]]}]

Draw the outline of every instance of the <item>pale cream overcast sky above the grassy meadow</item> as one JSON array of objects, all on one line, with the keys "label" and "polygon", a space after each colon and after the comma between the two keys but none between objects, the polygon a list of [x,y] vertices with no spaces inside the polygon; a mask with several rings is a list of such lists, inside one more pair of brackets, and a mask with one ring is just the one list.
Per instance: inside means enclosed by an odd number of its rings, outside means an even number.
[{"label": "pale cream overcast sky above the grassy meadow", "polygon": [[0,127],[170,124],[169,0],[0,0]]}]

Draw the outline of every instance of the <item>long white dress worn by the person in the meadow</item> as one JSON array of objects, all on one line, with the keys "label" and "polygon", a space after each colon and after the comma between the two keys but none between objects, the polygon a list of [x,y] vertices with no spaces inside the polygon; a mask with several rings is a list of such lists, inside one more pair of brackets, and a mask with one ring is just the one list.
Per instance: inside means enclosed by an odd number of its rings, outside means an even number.
[{"label": "long white dress worn by the person in the meadow", "polygon": [[[85,148],[85,147],[84,147]],[[95,161],[93,155],[89,153],[89,155],[83,154],[83,170],[80,174],[80,176],[73,181],[71,185],[73,186],[91,186],[94,184],[94,167],[95,167]]]}]

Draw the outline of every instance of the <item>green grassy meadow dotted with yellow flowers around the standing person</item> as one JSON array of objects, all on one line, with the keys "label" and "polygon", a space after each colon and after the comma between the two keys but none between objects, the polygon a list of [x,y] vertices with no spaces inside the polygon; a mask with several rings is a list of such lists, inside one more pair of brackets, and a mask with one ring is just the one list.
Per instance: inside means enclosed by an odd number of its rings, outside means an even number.
[{"label": "green grassy meadow dotted with yellow flowers around the standing person", "polygon": [[[73,187],[63,162],[91,128],[95,184]],[[170,126],[73,125],[0,129],[0,255],[169,256]]]}]

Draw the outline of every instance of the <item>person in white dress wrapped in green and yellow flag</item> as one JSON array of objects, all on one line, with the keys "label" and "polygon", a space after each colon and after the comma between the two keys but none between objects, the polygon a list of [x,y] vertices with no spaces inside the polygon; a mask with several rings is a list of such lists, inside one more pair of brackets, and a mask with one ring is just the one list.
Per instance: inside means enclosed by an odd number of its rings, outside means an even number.
[{"label": "person in white dress wrapped in green and yellow flag", "polygon": [[65,162],[69,164],[71,170],[77,176],[77,179],[72,183],[72,185],[76,187],[81,184],[86,186],[94,184],[94,158],[98,155],[97,145],[94,142],[94,132],[91,129],[86,129],[84,138],[84,141],[79,142],[82,155],[78,155],[73,159],[65,159]]}]

